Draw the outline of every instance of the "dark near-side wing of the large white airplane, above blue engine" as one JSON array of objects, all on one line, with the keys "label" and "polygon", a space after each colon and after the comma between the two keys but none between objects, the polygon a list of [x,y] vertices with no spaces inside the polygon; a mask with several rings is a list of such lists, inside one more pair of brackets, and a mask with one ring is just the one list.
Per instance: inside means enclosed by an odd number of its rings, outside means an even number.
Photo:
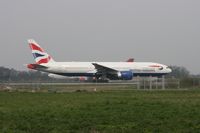
[{"label": "dark near-side wing of the large white airplane, above blue engine", "polygon": [[106,67],[97,63],[92,63],[92,64],[96,68],[97,72],[102,74],[116,74],[118,72],[117,70],[110,67]]}]

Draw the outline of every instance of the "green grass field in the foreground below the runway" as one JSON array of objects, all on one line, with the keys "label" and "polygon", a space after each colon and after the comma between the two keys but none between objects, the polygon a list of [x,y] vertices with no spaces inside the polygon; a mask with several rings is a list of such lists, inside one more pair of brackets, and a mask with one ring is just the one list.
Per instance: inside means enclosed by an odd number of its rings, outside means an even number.
[{"label": "green grass field in the foreground below the runway", "polygon": [[199,90],[0,92],[2,133],[199,131]]}]

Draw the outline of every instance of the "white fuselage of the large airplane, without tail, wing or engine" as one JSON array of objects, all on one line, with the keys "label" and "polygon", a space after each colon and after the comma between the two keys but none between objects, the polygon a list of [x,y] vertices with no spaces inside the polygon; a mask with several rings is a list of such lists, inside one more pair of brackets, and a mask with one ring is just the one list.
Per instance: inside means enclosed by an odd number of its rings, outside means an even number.
[{"label": "white fuselage of the large airplane, without tail, wing or engine", "polygon": [[95,76],[97,70],[92,63],[98,63],[118,71],[132,71],[134,76],[161,76],[171,72],[163,64],[152,62],[52,62],[41,64],[45,71],[64,76]]}]

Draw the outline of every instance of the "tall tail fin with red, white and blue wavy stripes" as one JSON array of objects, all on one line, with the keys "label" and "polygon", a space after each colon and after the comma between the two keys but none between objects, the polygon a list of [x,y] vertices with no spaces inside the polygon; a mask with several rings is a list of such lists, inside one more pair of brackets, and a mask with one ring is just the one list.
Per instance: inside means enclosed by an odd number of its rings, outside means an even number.
[{"label": "tall tail fin with red, white and blue wavy stripes", "polygon": [[34,60],[37,64],[45,64],[49,62],[54,62],[49,54],[47,54],[40,45],[33,39],[28,40],[28,44],[31,48]]}]

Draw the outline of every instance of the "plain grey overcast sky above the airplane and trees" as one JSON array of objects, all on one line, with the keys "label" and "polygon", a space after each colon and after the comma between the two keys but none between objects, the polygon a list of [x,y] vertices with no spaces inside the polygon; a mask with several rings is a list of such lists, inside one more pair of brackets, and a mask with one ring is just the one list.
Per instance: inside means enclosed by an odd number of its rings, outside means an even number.
[{"label": "plain grey overcast sky above the airplane and trees", "polygon": [[200,0],[0,0],[0,66],[56,61],[158,62],[200,73]]}]

